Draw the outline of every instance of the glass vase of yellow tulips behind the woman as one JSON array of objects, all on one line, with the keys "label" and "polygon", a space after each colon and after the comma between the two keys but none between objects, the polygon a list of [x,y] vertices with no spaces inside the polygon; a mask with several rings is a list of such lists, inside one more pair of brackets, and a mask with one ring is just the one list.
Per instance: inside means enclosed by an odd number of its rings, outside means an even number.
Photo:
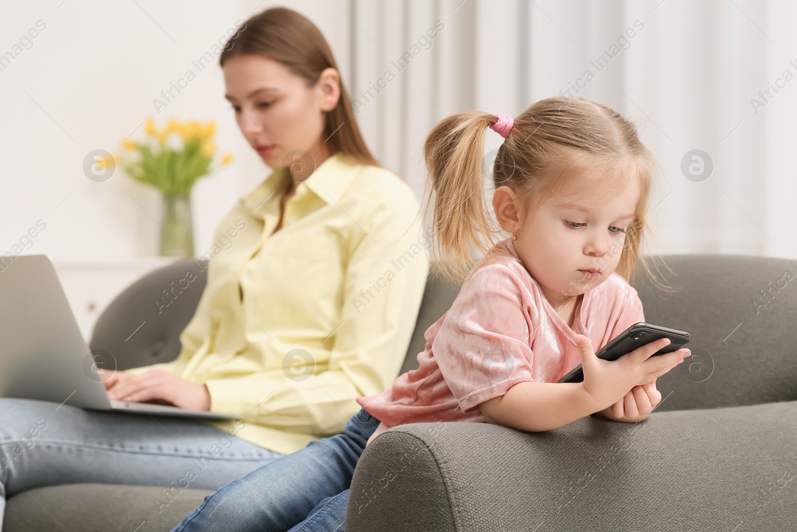
[{"label": "glass vase of yellow tulips behind the woman", "polygon": [[[135,160],[123,160],[124,170],[136,181],[156,187],[163,193],[163,216],[160,223],[160,254],[194,256],[194,232],[191,222],[190,191],[197,179],[211,172],[216,150],[213,142],[215,123],[196,120],[181,123],[172,118],[159,129],[155,120],[145,123],[147,139],[125,140],[122,147],[138,152]],[[232,156],[222,158],[229,164]]]}]

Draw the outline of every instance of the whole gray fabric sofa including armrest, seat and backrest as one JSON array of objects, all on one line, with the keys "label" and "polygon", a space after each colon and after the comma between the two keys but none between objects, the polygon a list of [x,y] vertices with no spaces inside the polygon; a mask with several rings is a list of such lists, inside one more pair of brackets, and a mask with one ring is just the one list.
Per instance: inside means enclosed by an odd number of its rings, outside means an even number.
[{"label": "whole gray fabric sofa including armrest, seat and backrest", "polygon": [[[797,357],[789,336],[797,263],[663,258],[681,292],[636,288],[647,321],[692,334],[693,357],[658,379],[663,399],[648,420],[586,417],[538,433],[469,423],[391,428],[359,460],[346,530],[797,530]],[[92,349],[112,353],[118,368],[175,357],[201,286],[180,294],[169,307],[175,312],[155,321],[159,330],[136,335],[137,344],[124,345],[118,331],[155,313],[152,299],[190,264],[167,266],[121,294],[100,317]],[[416,366],[424,331],[456,294],[457,286],[430,277],[402,371]],[[209,493],[183,491],[157,514],[151,501],[160,489],[29,490],[9,499],[5,530],[169,530]]]}]

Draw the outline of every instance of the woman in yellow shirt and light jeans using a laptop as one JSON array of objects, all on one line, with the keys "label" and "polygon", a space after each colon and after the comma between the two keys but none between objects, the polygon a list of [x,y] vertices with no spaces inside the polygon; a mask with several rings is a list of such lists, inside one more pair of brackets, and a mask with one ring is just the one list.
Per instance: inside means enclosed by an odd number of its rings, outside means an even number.
[{"label": "woman in yellow shirt and light jeans using a laptop", "polygon": [[[355,397],[398,375],[429,268],[414,193],[368,152],[332,52],[307,18],[257,14],[219,60],[241,132],[275,170],[218,225],[214,240],[234,243],[210,262],[179,357],[103,379],[112,400],[241,420],[2,399],[6,496],[148,484],[169,487],[167,506],[184,488],[222,487],[342,432]],[[10,451],[32,427],[33,446]]]}]

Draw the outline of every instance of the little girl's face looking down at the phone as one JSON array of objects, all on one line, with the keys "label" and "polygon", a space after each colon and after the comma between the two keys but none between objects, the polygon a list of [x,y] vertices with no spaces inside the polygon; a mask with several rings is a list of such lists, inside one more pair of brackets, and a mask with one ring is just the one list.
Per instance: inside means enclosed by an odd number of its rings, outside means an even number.
[{"label": "little girl's face looking down at the phone", "polygon": [[617,266],[639,201],[639,181],[629,181],[608,201],[591,201],[575,187],[539,208],[522,192],[497,189],[493,207],[501,227],[514,230],[518,257],[555,309],[599,286]]}]

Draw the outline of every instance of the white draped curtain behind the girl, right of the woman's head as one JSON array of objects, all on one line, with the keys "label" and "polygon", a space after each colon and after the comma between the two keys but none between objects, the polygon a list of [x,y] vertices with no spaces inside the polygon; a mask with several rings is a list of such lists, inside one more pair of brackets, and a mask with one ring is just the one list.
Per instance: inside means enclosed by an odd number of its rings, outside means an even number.
[{"label": "white draped curtain behind the girl, right of the woman's head", "polygon": [[[629,116],[662,165],[652,252],[797,255],[791,227],[797,81],[783,79],[785,70],[797,75],[793,2],[295,6],[328,37],[338,34],[344,79],[365,104],[357,117],[367,141],[419,197],[426,187],[422,143],[446,114],[477,108],[516,116],[563,91]],[[325,26],[324,14],[336,11],[344,17],[333,18],[344,26]],[[436,21],[442,30],[423,40]],[[399,70],[397,58],[413,52]],[[390,81],[387,71],[395,75]],[[783,88],[764,93],[764,102],[758,92],[778,79]],[[764,106],[754,108],[753,98]],[[500,141],[488,133],[487,151]],[[687,179],[681,171],[681,160],[696,149],[713,162],[708,179]]]}]

